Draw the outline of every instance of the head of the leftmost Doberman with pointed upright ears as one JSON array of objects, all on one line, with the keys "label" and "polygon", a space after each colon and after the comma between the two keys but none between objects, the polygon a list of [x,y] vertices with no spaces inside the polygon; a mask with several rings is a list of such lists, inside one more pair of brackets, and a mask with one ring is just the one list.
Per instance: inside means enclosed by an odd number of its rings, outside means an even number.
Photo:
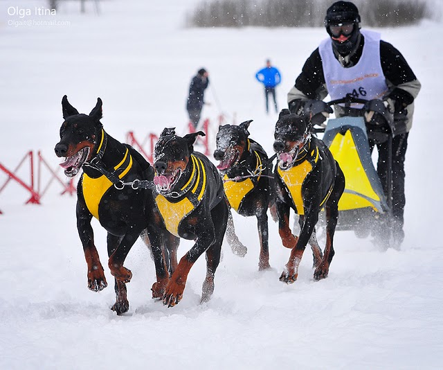
[{"label": "head of the leftmost Doberman with pointed upright ears", "polygon": [[68,101],[67,96],[62,99],[64,122],[60,127],[60,141],[55,146],[55,155],[64,157],[60,164],[64,174],[68,177],[77,175],[86,161],[96,154],[102,137],[102,100],[97,99],[96,107],[88,114],[79,114]]}]

